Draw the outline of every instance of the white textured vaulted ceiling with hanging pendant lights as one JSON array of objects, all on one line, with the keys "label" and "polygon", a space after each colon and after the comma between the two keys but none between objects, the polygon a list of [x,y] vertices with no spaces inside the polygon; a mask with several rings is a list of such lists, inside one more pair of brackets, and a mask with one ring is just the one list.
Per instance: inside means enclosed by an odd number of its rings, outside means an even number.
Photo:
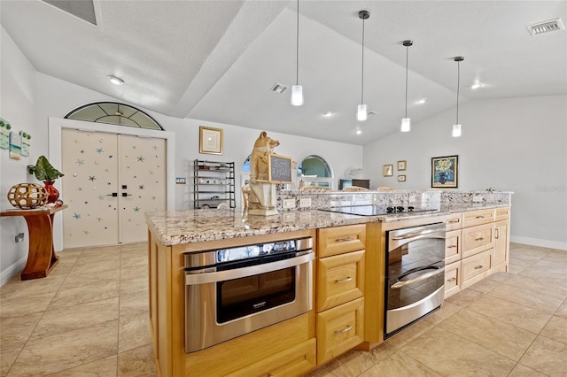
[{"label": "white textured vaulted ceiling with hanging pendant lights", "polygon": [[[461,102],[567,93],[567,33],[532,36],[525,28],[557,17],[567,22],[564,0],[300,0],[301,107],[291,106],[291,88],[270,91],[295,81],[295,1],[94,4],[97,26],[38,0],[2,0],[1,22],[38,72],[179,118],[364,145],[398,132],[406,39],[415,42],[408,76],[414,125],[454,107],[455,56],[465,57]],[[370,12],[364,102],[377,112],[366,122],[355,120],[361,9]],[[111,85],[108,74],[125,85]],[[475,80],[484,87],[472,90]],[[415,104],[422,97],[426,103]]]}]

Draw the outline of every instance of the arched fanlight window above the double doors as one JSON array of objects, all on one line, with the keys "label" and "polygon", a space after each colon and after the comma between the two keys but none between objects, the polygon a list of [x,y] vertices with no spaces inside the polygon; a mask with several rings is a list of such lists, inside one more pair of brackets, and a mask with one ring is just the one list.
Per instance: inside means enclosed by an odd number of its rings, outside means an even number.
[{"label": "arched fanlight window above the double doors", "polygon": [[159,126],[157,120],[151,118],[150,115],[136,107],[116,102],[85,104],[69,112],[65,118],[163,131],[163,127]]}]

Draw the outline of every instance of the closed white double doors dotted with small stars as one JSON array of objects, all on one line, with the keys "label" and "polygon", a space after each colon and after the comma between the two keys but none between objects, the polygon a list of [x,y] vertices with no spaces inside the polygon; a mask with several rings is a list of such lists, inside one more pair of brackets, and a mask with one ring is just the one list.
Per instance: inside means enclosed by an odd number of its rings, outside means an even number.
[{"label": "closed white double doors dotted with small stars", "polygon": [[165,211],[166,140],[61,130],[65,248],[144,242],[144,212]]}]

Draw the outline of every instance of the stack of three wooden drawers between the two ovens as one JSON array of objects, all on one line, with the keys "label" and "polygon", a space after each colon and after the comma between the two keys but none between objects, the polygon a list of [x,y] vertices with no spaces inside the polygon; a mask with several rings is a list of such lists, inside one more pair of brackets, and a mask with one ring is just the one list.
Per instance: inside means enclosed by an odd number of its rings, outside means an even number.
[{"label": "stack of three wooden drawers between the two ovens", "polygon": [[364,340],[366,225],[318,230],[317,365]]}]

